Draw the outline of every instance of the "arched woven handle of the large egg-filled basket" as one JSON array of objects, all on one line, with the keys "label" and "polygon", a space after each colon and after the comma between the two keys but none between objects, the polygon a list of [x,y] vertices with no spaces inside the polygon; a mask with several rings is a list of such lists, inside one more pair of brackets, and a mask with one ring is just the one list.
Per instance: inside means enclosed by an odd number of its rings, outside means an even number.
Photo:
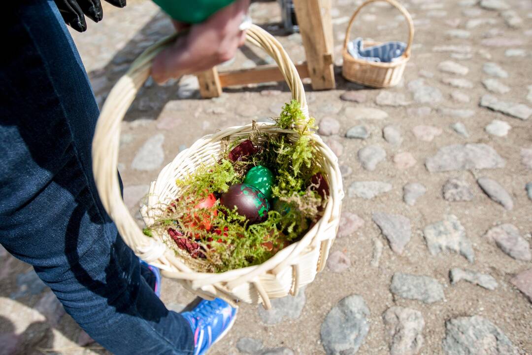
[{"label": "arched woven handle of the large egg-filled basket", "polygon": [[[124,242],[138,257],[146,262],[156,262],[157,265],[167,266],[166,269],[169,271],[175,270],[171,267],[172,263],[168,262],[171,255],[165,256],[165,253],[168,254],[170,251],[162,242],[144,235],[135,219],[129,214],[120,193],[117,170],[120,122],[134,101],[138,90],[149,77],[154,57],[164,48],[172,45],[178,36],[180,34],[174,34],[147,48],[114,85],[96,123],[92,145],[94,179],[105,211],[117,225]],[[292,98],[301,104],[302,111],[308,117],[309,111],[303,83],[294,63],[281,44],[267,31],[255,25],[247,29],[246,39],[263,48],[277,62],[292,92]]]}]

